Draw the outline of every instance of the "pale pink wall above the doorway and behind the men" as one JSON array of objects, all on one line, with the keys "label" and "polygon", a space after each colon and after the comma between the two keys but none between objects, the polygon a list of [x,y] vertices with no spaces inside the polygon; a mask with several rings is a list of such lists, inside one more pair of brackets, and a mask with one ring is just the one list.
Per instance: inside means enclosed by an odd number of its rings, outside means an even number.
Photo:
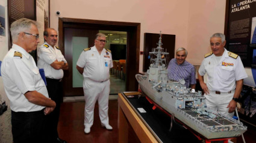
[{"label": "pale pink wall above the doorway and behind the men", "polygon": [[[50,1],[50,8],[50,26],[55,29],[58,29],[58,17],[141,23],[140,50],[143,50],[145,32],[175,34],[175,49],[188,49],[187,60],[192,64],[201,64],[208,52],[210,35],[223,32],[225,17],[223,0],[54,0]],[[164,42],[167,41],[163,41],[163,47]],[[140,55],[140,65],[142,61]]]}]

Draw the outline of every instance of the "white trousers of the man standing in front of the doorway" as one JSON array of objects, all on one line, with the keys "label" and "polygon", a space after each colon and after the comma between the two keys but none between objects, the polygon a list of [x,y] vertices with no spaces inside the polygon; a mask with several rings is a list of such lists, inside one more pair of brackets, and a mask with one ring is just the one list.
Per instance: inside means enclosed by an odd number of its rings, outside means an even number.
[{"label": "white trousers of the man standing in front of the doorway", "polygon": [[86,106],[84,108],[84,126],[92,127],[95,103],[98,100],[99,118],[102,125],[108,124],[108,97],[110,94],[110,81],[95,82],[84,79],[84,99]]}]

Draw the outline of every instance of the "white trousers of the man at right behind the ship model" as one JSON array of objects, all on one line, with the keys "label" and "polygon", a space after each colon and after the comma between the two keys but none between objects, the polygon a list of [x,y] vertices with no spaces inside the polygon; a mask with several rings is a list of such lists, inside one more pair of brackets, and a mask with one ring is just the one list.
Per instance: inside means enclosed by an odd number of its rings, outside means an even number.
[{"label": "white trousers of the man at right behind the ship model", "polygon": [[217,111],[220,114],[233,117],[234,112],[229,113],[228,109],[226,108],[233,99],[235,90],[231,91],[231,93],[221,93],[221,94],[216,94],[215,91],[210,91],[210,94],[204,94],[206,98],[206,105],[207,108],[210,108],[213,111]]}]

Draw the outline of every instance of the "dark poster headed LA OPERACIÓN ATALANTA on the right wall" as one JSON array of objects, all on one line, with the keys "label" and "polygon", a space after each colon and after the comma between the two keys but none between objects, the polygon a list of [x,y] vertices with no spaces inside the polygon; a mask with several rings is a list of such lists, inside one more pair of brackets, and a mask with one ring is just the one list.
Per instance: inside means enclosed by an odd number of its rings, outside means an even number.
[{"label": "dark poster headed LA OPERACI\u00d3N ATALANTA on the right wall", "polygon": [[226,47],[242,59],[248,78],[246,85],[256,87],[256,1],[229,1]]}]

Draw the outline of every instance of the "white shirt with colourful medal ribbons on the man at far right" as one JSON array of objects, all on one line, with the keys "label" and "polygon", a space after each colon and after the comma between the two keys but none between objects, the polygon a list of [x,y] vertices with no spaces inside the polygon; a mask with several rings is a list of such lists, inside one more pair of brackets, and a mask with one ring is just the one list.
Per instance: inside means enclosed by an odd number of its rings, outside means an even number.
[{"label": "white shirt with colourful medal ribbons on the man at far right", "polygon": [[199,68],[199,75],[208,75],[207,87],[211,91],[228,92],[236,89],[236,81],[247,78],[240,56],[233,58],[224,50],[219,62],[214,54],[207,56]]}]

